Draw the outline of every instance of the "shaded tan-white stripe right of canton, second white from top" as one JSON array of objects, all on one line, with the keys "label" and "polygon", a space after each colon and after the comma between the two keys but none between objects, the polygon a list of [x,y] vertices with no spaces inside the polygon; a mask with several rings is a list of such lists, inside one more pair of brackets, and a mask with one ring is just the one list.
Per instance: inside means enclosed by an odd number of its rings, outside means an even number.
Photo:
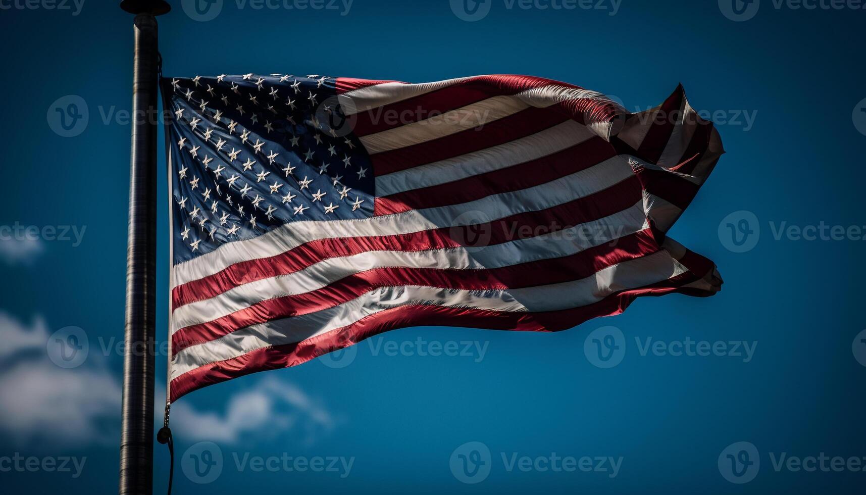
[{"label": "shaded tan-white stripe right of canton, second white from top", "polygon": [[[430,116],[428,119],[364,136],[361,143],[367,153],[383,153],[461,133],[474,127],[481,128],[488,122],[516,114],[528,107],[527,103],[520,100],[520,95],[494,96],[444,114]],[[372,114],[376,112],[373,111]],[[386,115],[379,114],[378,117],[384,119]]]}]

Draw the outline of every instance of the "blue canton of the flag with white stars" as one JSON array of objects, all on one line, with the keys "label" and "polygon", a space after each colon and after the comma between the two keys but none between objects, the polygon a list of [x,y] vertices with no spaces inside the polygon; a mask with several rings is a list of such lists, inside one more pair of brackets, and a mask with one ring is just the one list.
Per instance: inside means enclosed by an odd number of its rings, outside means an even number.
[{"label": "blue canton of the flag with white stars", "polygon": [[373,214],[370,157],[346,132],[335,78],[162,81],[173,114],[174,263],[305,220]]}]

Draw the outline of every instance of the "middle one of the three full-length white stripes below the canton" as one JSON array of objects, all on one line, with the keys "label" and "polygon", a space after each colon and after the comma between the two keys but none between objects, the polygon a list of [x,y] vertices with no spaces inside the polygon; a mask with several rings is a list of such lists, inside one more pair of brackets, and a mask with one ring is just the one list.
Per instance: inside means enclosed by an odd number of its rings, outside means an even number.
[{"label": "middle one of the three full-length white stripes below the canton", "polygon": [[173,334],[198,323],[210,322],[264,300],[319,290],[342,278],[384,267],[479,270],[571,256],[593,246],[610,243],[648,228],[643,203],[607,218],[533,238],[484,248],[447,248],[428,251],[367,251],[333,257],[287,275],[244,283],[219,296],[175,309]]}]

